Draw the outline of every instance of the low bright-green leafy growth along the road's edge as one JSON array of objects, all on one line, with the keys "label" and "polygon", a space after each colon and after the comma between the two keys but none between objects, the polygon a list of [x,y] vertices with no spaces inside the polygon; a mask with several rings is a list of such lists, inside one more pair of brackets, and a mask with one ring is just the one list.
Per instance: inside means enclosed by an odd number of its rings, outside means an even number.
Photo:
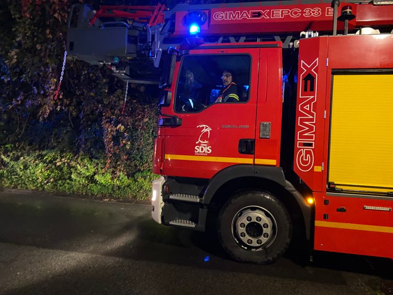
[{"label": "low bright-green leafy growth along the road's edge", "polygon": [[59,151],[18,151],[12,145],[0,146],[0,187],[39,189],[48,192],[147,200],[150,169],[126,176],[105,168],[104,158],[92,159]]}]

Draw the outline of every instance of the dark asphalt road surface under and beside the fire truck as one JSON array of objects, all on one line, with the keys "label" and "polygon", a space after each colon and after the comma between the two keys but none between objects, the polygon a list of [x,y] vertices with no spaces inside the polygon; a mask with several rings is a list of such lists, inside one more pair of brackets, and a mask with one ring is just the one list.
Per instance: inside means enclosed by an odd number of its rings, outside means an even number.
[{"label": "dark asphalt road surface under and beside the fire truck", "polygon": [[296,250],[237,263],[150,206],[0,192],[0,294],[382,294],[388,259]]}]

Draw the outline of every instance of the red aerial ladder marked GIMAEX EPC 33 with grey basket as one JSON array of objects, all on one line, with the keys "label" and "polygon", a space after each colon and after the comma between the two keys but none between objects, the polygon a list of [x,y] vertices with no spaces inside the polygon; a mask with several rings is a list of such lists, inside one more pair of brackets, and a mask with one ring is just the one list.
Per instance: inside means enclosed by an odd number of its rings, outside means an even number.
[{"label": "red aerial ladder marked GIMAEX EPC 33 with grey basket", "polygon": [[[68,20],[67,52],[93,65],[108,65],[125,81],[159,84],[160,61],[168,49],[184,43],[274,40],[290,48],[300,37],[313,36],[312,32],[390,33],[392,20],[393,6],[386,1],[178,4],[170,10],[161,4],[98,10],[78,4],[72,6]],[[199,26],[201,40],[190,36],[193,23]]]}]

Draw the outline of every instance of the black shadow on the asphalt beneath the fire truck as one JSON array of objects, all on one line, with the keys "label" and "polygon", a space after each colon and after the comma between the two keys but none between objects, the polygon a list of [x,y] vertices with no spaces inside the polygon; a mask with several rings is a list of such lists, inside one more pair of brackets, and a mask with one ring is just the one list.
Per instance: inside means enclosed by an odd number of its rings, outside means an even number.
[{"label": "black shadow on the asphalt beneath the fire truck", "polygon": [[275,263],[253,265],[233,261],[212,235],[159,226],[150,220],[143,227],[149,228],[139,233],[141,246],[137,248],[143,250],[130,258],[330,284],[345,284],[341,271],[393,279],[393,273],[386,271],[393,267],[389,259],[315,251],[310,262],[304,245],[295,243]]}]

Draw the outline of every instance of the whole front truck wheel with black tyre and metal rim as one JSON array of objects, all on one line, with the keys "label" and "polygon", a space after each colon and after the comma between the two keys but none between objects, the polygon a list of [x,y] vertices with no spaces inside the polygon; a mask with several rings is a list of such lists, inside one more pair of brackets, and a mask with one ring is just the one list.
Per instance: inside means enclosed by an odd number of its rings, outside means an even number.
[{"label": "whole front truck wheel with black tyre and metal rim", "polygon": [[272,263],[291,242],[292,221],[288,210],[266,192],[234,195],[220,210],[217,222],[221,245],[238,261]]}]

